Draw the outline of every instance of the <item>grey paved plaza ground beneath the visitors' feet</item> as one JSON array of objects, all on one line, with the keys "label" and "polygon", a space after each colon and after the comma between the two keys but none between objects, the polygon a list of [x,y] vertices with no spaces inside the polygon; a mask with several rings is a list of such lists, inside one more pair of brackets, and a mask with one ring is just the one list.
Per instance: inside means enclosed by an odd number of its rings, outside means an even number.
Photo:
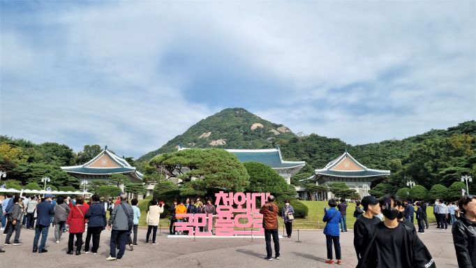
[{"label": "grey paved plaza ground beneath the visitors' feet", "polygon": [[[196,239],[167,238],[162,230],[158,245],[146,245],[147,230],[139,230],[138,246],[128,251],[120,261],[108,262],[110,231],[103,231],[98,255],[66,255],[68,233],[64,233],[59,244],[54,243],[50,228],[47,253],[31,253],[34,230],[22,229],[22,246],[3,246],[0,253],[1,267],[329,267],[326,258],[325,236],[322,230],[301,230],[297,243],[297,230],[291,239],[280,239],[281,260],[269,262],[265,258],[265,239]],[[281,231],[281,230],[280,230]],[[86,237],[84,234],[83,239]],[[452,242],[451,230],[437,230],[434,225],[420,236],[429,248],[437,267],[458,267]],[[5,236],[0,235],[1,245]],[[355,267],[357,258],[352,244],[353,233],[342,233],[341,248],[343,265]],[[92,245],[91,245],[92,246]]]}]

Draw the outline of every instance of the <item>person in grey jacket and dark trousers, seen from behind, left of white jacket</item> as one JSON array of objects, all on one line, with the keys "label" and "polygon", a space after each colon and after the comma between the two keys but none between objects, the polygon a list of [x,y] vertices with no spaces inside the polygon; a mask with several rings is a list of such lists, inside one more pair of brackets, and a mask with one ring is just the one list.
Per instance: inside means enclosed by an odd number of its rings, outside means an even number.
[{"label": "person in grey jacket and dark trousers, seen from behind, left of white jacket", "polygon": [[[112,209],[107,230],[111,230],[110,256],[106,260],[121,260],[126,251],[128,233],[134,224],[132,207],[127,203],[127,195],[121,195],[120,203]],[[119,246],[119,252],[116,248]]]}]

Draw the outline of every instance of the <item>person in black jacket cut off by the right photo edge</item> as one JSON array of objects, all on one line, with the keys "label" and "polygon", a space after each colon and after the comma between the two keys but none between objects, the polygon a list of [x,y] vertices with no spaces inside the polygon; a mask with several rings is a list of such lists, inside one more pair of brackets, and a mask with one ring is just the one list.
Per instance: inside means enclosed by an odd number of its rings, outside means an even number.
[{"label": "person in black jacket cut off by the right photo edge", "polygon": [[476,196],[465,195],[458,202],[460,216],[453,224],[453,244],[458,267],[476,267]]}]

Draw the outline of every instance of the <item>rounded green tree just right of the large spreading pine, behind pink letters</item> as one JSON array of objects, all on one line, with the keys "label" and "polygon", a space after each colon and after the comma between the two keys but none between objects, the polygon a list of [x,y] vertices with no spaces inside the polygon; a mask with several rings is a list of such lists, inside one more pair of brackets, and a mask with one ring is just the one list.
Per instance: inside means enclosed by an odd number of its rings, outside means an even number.
[{"label": "rounded green tree just right of the large spreading pine, behind pink letters", "polygon": [[277,195],[288,189],[285,179],[268,165],[258,162],[246,162],[243,165],[250,176],[250,184],[246,187],[246,191]]}]

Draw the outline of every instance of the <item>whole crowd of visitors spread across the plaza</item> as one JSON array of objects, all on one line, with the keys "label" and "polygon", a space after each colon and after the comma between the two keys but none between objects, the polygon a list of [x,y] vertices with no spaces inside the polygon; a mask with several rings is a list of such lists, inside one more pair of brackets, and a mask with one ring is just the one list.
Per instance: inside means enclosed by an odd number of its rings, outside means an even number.
[{"label": "whole crowd of visitors spread across the plaza", "polygon": [[[82,253],[96,255],[101,239],[101,232],[107,228],[111,230],[110,256],[107,260],[121,260],[124,257],[126,246],[133,251],[137,245],[137,228],[141,211],[137,207],[138,200],[128,202],[127,195],[119,193],[115,202],[102,201],[98,195],[92,195],[89,202],[83,198],[69,198],[61,196],[54,198],[50,194],[43,197],[32,195],[6,195],[0,206],[3,212],[1,226],[5,237],[4,246],[20,246],[22,227],[34,230],[33,253],[46,253],[45,244],[48,230],[54,226],[54,241],[60,243],[61,234],[69,232],[69,255]],[[270,195],[266,204],[260,209],[263,214],[263,228],[265,229],[266,260],[280,259],[278,237],[278,216],[283,218],[286,237],[292,235],[292,221],[295,211],[289,200],[285,200],[283,209],[278,208]],[[326,223],[324,234],[327,245],[327,260],[332,264],[342,264],[341,232],[347,232],[346,211],[348,204],[345,200],[331,199],[329,208],[325,208],[322,221]],[[357,255],[357,267],[436,267],[436,264],[418,234],[424,234],[429,228],[425,202],[410,202],[401,200],[393,195],[387,195],[379,200],[369,195],[360,202],[354,216],[354,247]],[[362,206],[362,207],[361,207]],[[415,207],[416,209],[415,209]],[[184,201],[174,201],[168,208],[170,211],[170,234],[186,234],[174,230],[174,223],[186,221],[179,214],[211,214],[216,213],[212,200],[206,204],[200,198]],[[107,221],[106,213],[110,212]],[[147,235],[146,244],[158,244],[156,240],[157,228],[161,214],[165,211],[165,204],[153,198],[147,207]],[[458,202],[444,202],[436,200],[433,213],[436,217],[436,228],[447,230],[452,225],[454,247],[459,267],[476,267],[476,197],[463,196]],[[418,230],[414,225],[414,216]],[[340,225],[340,228],[339,228]],[[211,232],[210,226],[204,226],[205,231]],[[202,231],[202,230],[201,230]],[[83,234],[87,232],[83,241]],[[13,243],[11,237],[15,233]],[[91,246],[92,238],[92,247]],[[272,243],[274,242],[274,258]],[[38,245],[39,244],[39,245]],[[84,245],[84,248],[82,248]],[[334,247],[334,248],[333,248]],[[91,249],[91,251],[90,251]],[[334,251],[333,251],[334,249]],[[0,248],[0,252],[5,252]]]}]

